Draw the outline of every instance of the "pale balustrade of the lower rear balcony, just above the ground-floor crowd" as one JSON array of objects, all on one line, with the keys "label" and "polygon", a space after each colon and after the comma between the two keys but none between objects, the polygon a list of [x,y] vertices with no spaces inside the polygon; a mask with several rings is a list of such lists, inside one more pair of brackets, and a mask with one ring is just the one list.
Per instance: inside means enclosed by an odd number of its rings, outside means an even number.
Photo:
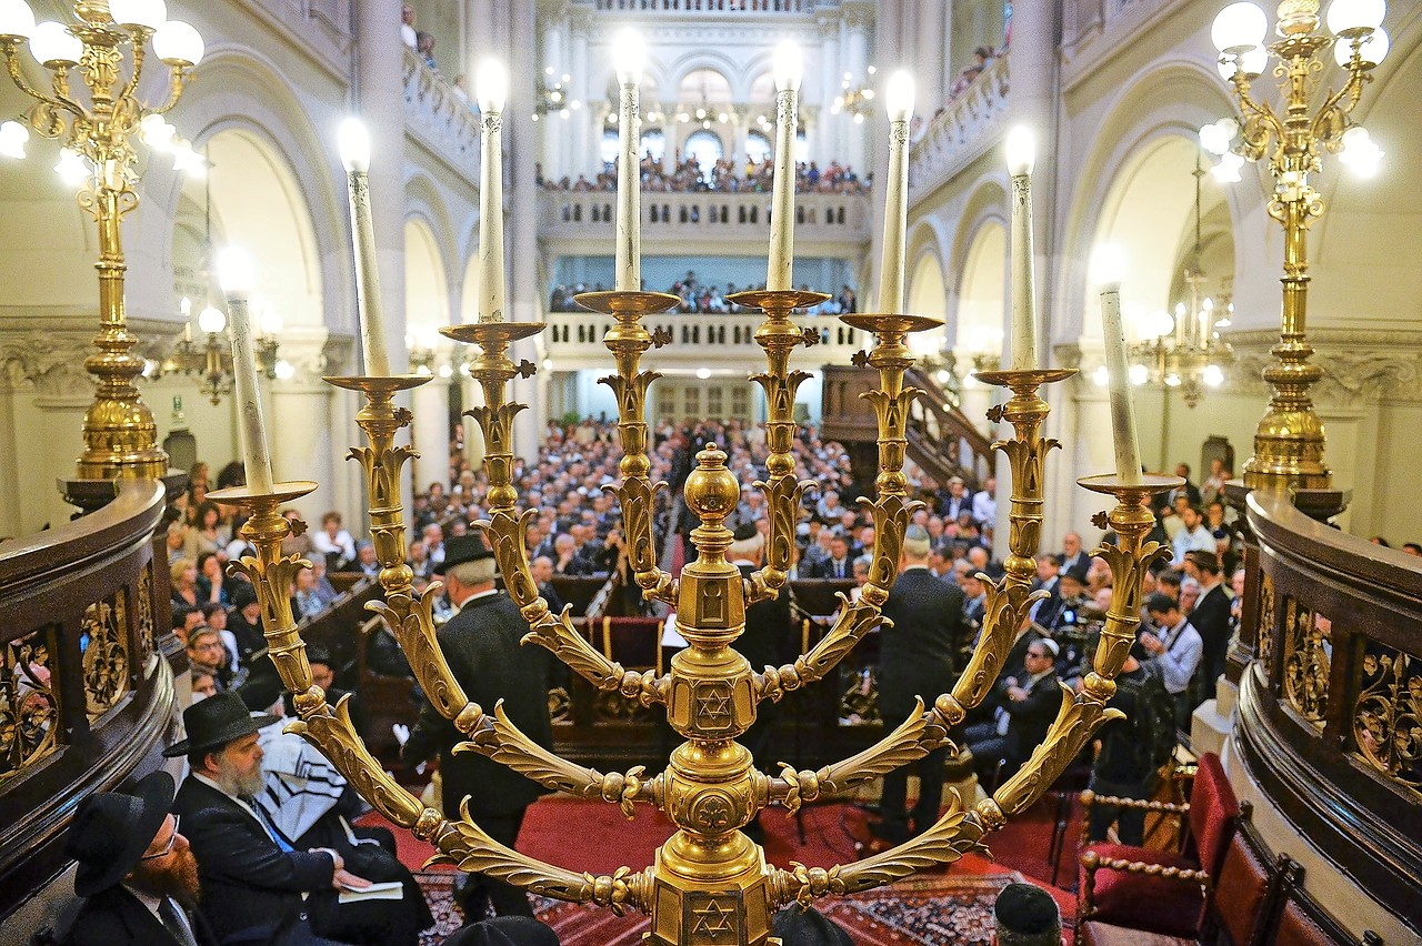
[{"label": "pale balustrade of the lower rear balcony, just above the ground-floor crowd", "polygon": [[[663,331],[671,342],[647,357],[654,368],[668,366],[697,368],[707,364],[732,362],[738,366],[759,365],[761,347],[755,344],[755,330],[765,321],[758,312],[738,315],[693,315],[664,314],[648,315],[643,324],[648,331]],[[796,315],[792,320],[801,328],[819,330],[819,344],[811,349],[799,348],[795,364],[799,368],[818,368],[823,364],[848,365],[855,352],[870,344],[870,337],[845,325],[832,315]],[[603,337],[616,322],[596,312],[549,312],[547,331],[543,334],[547,354],[559,368],[606,368],[607,348]],[[759,369],[759,368],[757,368]]]}]

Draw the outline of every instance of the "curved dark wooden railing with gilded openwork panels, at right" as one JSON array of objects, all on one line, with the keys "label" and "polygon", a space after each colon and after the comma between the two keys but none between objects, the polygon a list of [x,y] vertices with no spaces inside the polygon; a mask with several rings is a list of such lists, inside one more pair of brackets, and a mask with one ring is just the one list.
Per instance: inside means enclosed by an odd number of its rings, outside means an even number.
[{"label": "curved dark wooden railing with gilded openwork panels, at right", "polygon": [[1251,493],[1236,740],[1260,788],[1422,929],[1422,567]]}]

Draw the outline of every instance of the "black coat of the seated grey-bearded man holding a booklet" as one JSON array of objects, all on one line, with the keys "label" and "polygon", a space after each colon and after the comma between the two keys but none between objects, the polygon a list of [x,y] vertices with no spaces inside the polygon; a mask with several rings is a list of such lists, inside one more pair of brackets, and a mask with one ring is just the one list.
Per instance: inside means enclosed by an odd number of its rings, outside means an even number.
[{"label": "black coat of the seated grey-bearded man holding a booklet", "polygon": [[301,893],[331,891],[331,857],[283,852],[242,805],[192,776],[172,811],[182,817],[183,837],[198,858],[201,909],[219,942],[301,942],[283,939],[284,930],[304,913]]}]

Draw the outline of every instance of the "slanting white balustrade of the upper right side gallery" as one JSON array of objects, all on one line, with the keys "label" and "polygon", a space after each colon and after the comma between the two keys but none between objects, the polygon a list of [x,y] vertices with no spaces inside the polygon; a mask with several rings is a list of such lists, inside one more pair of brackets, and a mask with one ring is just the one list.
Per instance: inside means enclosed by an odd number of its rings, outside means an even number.
[{"label": "slanting white balustrade of the upper right side gallery", "polygon": [[916,197],[966,169],[994,148],[1007,124],[1008,57],[988,64],[958,98],[937,115],[909,155],[909,189]]}]

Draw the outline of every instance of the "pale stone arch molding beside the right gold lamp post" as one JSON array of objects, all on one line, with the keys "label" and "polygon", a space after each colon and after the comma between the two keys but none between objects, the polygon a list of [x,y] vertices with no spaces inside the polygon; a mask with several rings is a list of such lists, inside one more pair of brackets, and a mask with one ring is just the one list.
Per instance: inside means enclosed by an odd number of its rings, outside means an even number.
[{"label": "pale stone arch molding beside the right gold lamp post", "polygon": [[[1234,112],[1214,64],[1203,57],[1156,60],[1121,82],[1119,89],[1106,105],[1096,134],[1074,162],[1076,168],[1068,170],[1076,186],[1052,253],[1061,260],[1061,268],[1048,287],[1054,344],[1076,342],[1084,334],[1088,261],[1119,175],[1132,166],[1142,149],[1155,148],[1170,136],[1194,139],[1200,125]],[[1226,187],[1224,199],[1233,227],[1236,280],[1241,273],[1277,271],[1280,267],[1270,257],[1271,244],[1261,239],[1264,234],[1251,229],[1254,239],[1246,239],[1241,230],[1244,220],[1267,222],[1261,187],[1246,176],[1241,183]]]}]

